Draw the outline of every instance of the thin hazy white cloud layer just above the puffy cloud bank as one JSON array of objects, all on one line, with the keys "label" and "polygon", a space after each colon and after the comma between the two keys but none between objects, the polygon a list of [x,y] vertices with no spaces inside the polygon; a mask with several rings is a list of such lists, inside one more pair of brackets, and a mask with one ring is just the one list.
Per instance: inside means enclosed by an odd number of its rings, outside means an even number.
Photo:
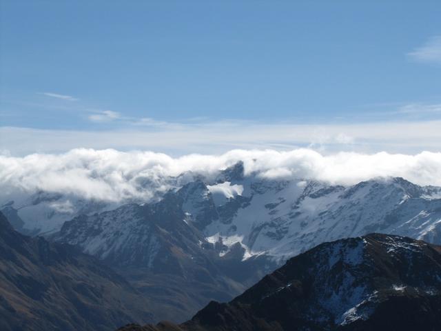
[{"label": "thin hazy white cloud layer just above the puffy cloud bank", "polygon": [[441,150],[441,121],[292,125],[218,122],[131,127],[132,130],[69,131],[0,128],[0,150],[12,155],[65,152],[72,148],[153,150],[169,154],[221,153],[235,148],[314,147],[326,152],[416,153]]}]

